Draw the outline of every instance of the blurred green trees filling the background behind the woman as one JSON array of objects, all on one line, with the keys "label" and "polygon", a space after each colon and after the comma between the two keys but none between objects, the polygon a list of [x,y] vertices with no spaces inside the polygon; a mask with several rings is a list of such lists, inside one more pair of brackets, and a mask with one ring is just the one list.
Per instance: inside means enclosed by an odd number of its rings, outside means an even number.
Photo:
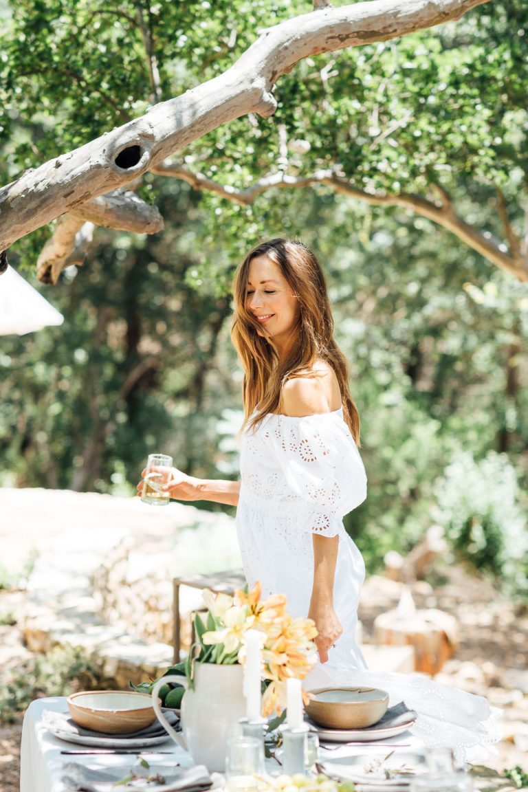
[{"label": "blurred green trees filling the background behind the woman", "polygon": [[[256,29],[310,10],[299,0],[13,8],[0,2],[4,183],[225,70]],[[475,234],[522,256],[527,23],[521,2],[494,2],[306,60],[279,82],[272,119],[241,118],[178,162],[237,189],[337,168],[363,191],[448,193]],[[362,415],[369,497],[347,527],[369,569],[441,524],[458,554],[522,590],[526,285],[416,212],[329,186],[244,205],[148,174],[139,194],[165,230],[98,229],[85,266],[44,289],[64,325],[0,340],[3,484],[132,494],[154,450],[191,474],[236,478],[230,275],[260,238],[299,237],[325,265]],[[49,233],[10,253],[30,280]]]}]

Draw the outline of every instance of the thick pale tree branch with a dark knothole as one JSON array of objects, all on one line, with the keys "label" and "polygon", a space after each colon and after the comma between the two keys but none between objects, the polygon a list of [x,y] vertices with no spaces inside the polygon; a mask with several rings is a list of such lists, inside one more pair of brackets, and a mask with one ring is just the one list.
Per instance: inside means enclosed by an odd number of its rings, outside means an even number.
[{"label": "thick pale tree branch with a dark knothole", "polygon": [[271,116],[272,89],[310,55],[405,36],[488,0],[370,0],[326,8],[260,32],[224,74],[25,173],[0,189],[0,252],[65,211],[104,195],[230,120]]}]

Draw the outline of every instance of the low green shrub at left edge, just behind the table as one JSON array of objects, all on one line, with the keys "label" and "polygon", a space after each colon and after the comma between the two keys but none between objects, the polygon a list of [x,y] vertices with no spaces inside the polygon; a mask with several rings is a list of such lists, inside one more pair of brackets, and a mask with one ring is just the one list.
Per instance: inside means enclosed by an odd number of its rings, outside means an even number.
[{"label": "low green shrub at left edge, just behind the table", "polygon": [[46,655],[4,672],[0,680],[0,723],[13,722],[33,701],[101,688],[97,667],[81,649],[56,647]]}]

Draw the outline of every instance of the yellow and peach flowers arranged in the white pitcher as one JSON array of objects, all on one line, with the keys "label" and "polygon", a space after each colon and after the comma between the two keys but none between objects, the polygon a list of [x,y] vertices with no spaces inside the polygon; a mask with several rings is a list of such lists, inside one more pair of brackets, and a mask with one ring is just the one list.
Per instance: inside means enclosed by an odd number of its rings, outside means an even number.
[{"label": "yellow and peach flowers arranged in the white pitcher", "polygon": [[[261,600],[260,583],[253,591],[237,591],[234,596],[203,592],[207,605],[205,621],[196,614],[195,627],[199,663],[232,664],[245,662],[245,634],[262,633],[261,678],[266,681],[262,699],[264,715],[280,713],[286,706],[286,680],[304,679],[317,662],[313,638],[317,629],[312,619],[294,619],[286,610],[283,594]],[[192,651],[189,653],[189,658]],[[188,664],[188,676],[191,672]]]}]

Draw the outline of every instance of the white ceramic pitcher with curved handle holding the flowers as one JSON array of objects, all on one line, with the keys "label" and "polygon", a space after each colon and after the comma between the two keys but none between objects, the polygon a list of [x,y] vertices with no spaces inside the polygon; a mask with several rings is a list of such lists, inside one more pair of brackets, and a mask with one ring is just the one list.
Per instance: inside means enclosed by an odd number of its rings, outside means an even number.
[{"label": "white ceramic pitcher with curved handle holding the flowers", "polygon": [[[237,663],[195,663],[192,688],[186,677],[171,675],[162,676],[152,689],[158,721],[196,764],[205,764],[209,771],[224,771],[227,741],[237,734],[238,722],[245,716],[242,677],[243,666]],[[187,688],[181,702],[183,733],[175,731],[161,712],[158,694],[167,682]]]}]

